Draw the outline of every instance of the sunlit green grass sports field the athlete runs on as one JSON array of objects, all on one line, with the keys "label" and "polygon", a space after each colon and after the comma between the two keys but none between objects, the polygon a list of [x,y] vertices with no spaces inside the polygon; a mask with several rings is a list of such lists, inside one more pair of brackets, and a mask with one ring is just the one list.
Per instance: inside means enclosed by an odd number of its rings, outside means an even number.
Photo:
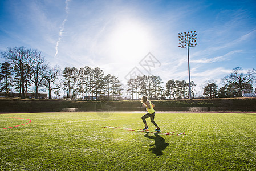
[{"label": "sunlit green grass sports field the athlete runs on", "polygon": [[100,128],[144,128],[144,113],[107,114],[1,114],[0,170],[256,170],[255,113],[156,113],[180,136]]}]

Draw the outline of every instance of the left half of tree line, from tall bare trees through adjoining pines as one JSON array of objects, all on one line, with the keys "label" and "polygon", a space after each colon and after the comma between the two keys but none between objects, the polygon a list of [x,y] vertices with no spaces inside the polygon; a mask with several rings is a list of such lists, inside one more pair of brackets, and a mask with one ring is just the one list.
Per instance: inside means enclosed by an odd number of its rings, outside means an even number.
[{"label": "left half of tree line, from tall bare trees through adjoining pines", "polygon": [[121,96],[123,86],[116,76],[104,76],[100,68],[88,66],[80,68],[64,68],[62,75],[58,66],[51,67],[41,52],[25,47],[7,48],[2,52],[6,62],[0,65],[0,91],[19,92],[21,98],[28,92],[34,92],[35,99],[39,92],[48,90],[55,97],[86,99],[86,100],[116,100]]}]

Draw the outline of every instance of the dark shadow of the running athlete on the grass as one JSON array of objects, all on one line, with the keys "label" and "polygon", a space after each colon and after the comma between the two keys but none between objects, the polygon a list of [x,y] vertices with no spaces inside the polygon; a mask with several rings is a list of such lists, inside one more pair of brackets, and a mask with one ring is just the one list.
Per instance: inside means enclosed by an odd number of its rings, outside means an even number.
[{"label": "dark shadow of the running athlete on the grass", "polygon": [[163,150],[166,149],[166,147],[169,145],[169,143],[165,143],[164,138],[159,136],[158,133],[154,133],[155,136],[149,136],[149,132],[147,132],[144,137],[147,137],[148,139],[155,140],[155,144],[151,144],[149,146],[152,146],[152,148],[149,148],[152,153],[156,154],[157,156],[161,156],[163,154]]}]

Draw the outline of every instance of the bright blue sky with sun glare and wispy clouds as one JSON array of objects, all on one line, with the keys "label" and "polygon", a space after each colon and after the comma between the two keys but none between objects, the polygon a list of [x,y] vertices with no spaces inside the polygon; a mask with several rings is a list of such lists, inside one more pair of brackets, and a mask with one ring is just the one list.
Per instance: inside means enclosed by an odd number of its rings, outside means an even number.
[{"label": "bright blue sky with sun glare and wispy clouds", "polygon": [[[188,82],[185,48],[178,32],[197,31],[190,48],[197,91],[235,67],[256,68],[256,1],[0,0],[0,51],[25,46],[41,51],[52,66],[99,67],[123,84],[134,69]],[[151,52],[156,66],[141,62]],[[3,62],[3,59],[0,59]]]}]

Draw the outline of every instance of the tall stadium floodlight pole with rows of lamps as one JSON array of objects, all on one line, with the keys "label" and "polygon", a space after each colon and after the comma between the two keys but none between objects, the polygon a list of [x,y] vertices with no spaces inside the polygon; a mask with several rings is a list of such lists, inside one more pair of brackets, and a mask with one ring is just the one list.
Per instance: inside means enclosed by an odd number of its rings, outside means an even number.
[{"label": "tall stadium floodlight pole with rows of lamps", "polygon": [[195,47],[197,45],[196,31],[188,31],[178,33],[178,47],[188,49],[188,71],[189,71],[189,99],[191,98],[191,82],[190,82],[190,66],[189,66],[189,47]]}]

